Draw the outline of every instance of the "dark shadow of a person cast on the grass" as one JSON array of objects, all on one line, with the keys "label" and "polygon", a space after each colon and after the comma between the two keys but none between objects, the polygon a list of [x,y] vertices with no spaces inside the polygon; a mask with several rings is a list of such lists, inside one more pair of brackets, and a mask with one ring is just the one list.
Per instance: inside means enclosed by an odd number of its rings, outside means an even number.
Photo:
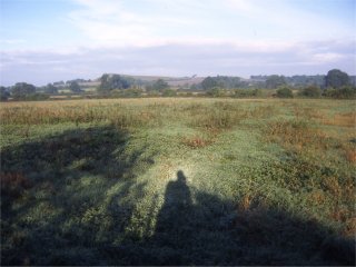
[{"label": "dark shadow of a person cast on the grass", "polygon": [[177,180],[166,187],[165,202],[157,216],[155,244],[161,247],[165,256],[157,264],[179,264],[182,250],[189,250],[194,227],[190,224],[192,201],[187,177],[177,171]]}]

